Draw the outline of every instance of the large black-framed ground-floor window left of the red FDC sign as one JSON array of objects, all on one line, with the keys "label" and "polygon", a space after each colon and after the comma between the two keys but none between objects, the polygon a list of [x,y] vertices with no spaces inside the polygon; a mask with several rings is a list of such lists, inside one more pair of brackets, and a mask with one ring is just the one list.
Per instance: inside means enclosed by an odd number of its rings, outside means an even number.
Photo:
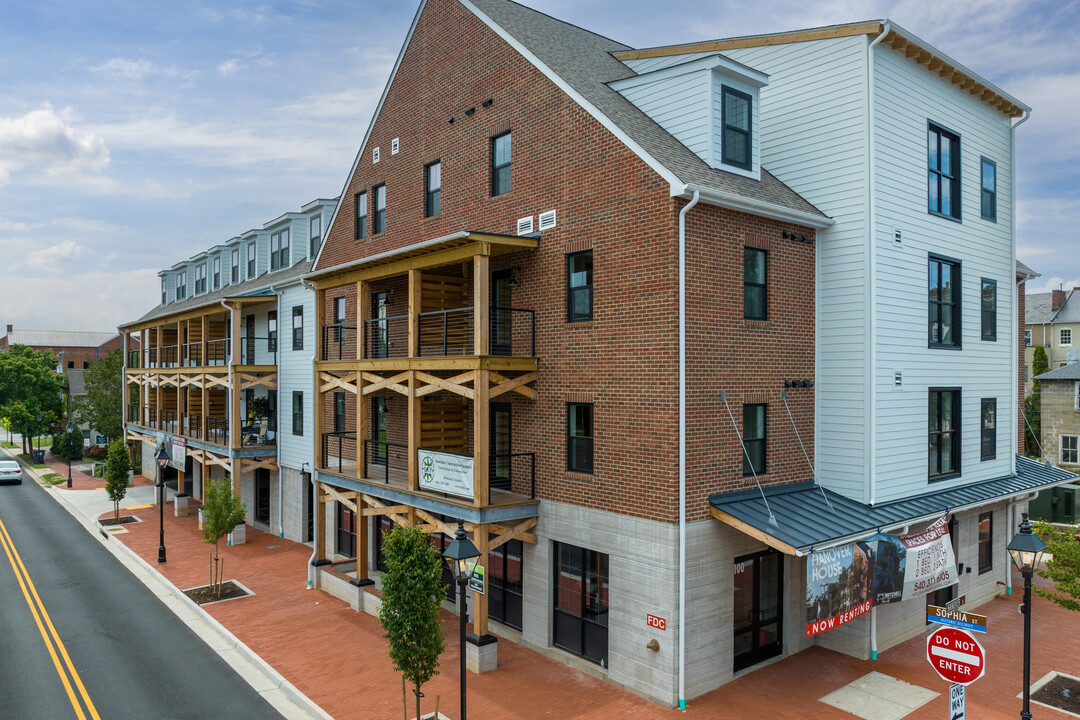
[{"label": "large black-framed ground-floor window left of the red FDC sign", "polygon": [[607,663],[608,556],[555,543],[555,647]]}]

